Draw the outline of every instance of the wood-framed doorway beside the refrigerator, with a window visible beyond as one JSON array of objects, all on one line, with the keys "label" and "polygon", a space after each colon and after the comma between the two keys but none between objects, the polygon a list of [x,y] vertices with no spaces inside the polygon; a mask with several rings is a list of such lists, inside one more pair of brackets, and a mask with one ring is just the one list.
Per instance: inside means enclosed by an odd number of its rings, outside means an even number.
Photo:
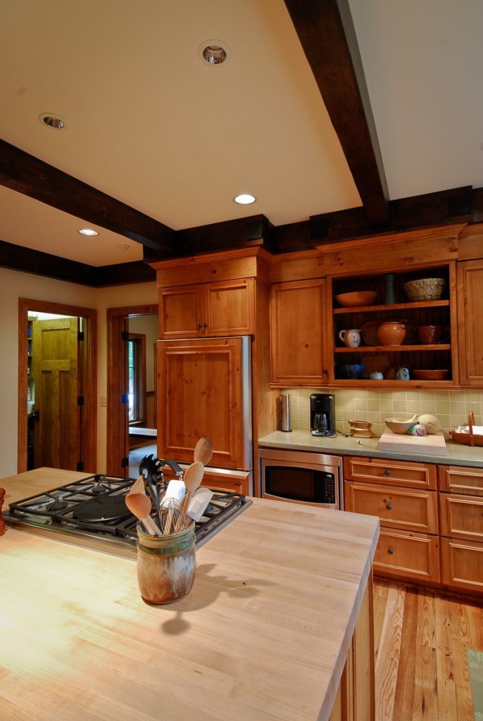
[{"label": "wood-framed doorway beside the refrigerator, with a window visible beyond", "polygon": [[[107,473],[117,476],[138,474],[139,454],[156,453],[156,365],[154,342],[159,337],[157,305],[128,306],[107,309]],[[141,369],[130,364],[129,339],[144,338],[135,343]],[[144,351],[142,346],[144,345]],[[141,348],[141,350],[140,350]],[[144,361],[142,361],[144,353]],[[143,365],[145,363],[145,365]],[[136,379],[144,373],[144,392],[135,399],[132,389],[139,389]],[[142,383],[141,383],[142,386]],[[139,392],[138,392],[139,396]],[[141,408],[141,411],[139,410]],[[137,410],[136,410],[137,409]],[[141,413],[141,415],[139,415]],[[136,415],[137,414],[137,415]],[[132,415],[130,423],[129,415]],[[133,440],[130,453],[131,439]],[[143,446],[149,451],[143,452]],[[134,446],[137,446],[135,448]],[[132,463],[131,463],[132,456]]]}]

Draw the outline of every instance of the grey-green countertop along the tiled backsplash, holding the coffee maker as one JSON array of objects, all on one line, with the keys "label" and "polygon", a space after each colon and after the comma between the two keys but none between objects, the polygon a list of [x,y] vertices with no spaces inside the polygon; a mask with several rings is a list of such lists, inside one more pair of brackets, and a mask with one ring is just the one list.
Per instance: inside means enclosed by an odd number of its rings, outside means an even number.
[{"label": "grey-green countertop along the tiled backsplash, holding the coffee maker", "polygon": [[[361,441],[361,443],[358,443]],[[438,463],[448,466],[483,466],[483,446],[464,446],[461,443],[446,441],[446,455],[425,453],[401,453],[379,451],[377,437],[345,438],[337,433],[334,438],[311,435],[309,430],[292,430],[285,433],[276,430],[258,439],[258,446],[265,448],[286,448],[291,451],[318,451],[319,453],[337,454],[340,456],[372,456],[373,458],[402,459],[420,463]]]}]

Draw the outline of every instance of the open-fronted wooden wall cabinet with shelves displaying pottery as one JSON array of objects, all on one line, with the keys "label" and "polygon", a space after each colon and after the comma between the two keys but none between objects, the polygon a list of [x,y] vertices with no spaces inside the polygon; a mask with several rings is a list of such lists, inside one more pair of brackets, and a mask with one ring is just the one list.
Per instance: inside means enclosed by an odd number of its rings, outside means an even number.
[{"label": "open-fronted wooden wall cabinet with shelves displaying pottery", "polygon": [[[464,227],[384,234],[317,247],[330,298],[327,325],[332,350],[326,358],[330,385],[373,388],[376,381],[369,375],[381,371],[384,378],[377,380],[378,388],[400,387],[401,381],[396,379],[400,367],[409,369],[406,389],[443,389],[458,384],[456,260],[458,234]],[[404,283],[418,278],[444,278],[443,296],[435,301],[409,301]],[[389,285],[394,286],[392,297],[387,293]],[[338,294],[352,291],[375,291],[376,301],[347,308],[335,300]],[[381,344],[377,328],[384,321],[404,323],[406,336],[400,345]],[[417,334],[421,325],[441,325],[448,331],[443,341],[425,345]],[[345,347],[339,337],[342,329],[360,329],[362,340],[357,348]],[[365,366],[360,379],[346,377],[343,366],[354,363]],[[420,380],[412,375],[413,370],[447,373],[445,379]]]}]

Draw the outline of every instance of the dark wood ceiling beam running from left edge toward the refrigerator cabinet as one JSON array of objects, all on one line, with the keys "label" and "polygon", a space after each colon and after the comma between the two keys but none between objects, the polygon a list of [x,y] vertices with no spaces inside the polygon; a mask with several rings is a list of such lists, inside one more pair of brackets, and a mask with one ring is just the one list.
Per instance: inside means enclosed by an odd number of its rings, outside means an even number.
[{"label": "dark wood ceiling beam running from left edge toward the refrigerator cabinet", "polygon": [[0,185],[171,257],[172,229],[0,139]]}]

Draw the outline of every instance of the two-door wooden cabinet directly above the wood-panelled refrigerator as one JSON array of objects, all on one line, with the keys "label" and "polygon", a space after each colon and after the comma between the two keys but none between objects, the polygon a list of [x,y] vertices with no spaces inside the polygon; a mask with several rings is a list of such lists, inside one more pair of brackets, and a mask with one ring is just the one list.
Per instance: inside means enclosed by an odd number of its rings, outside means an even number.
[{"label": "two-door wooden cabinet directly above the wood-panelled refrigerator", "polygon": [[159,290],[159,337],[254,333],[254,278]]}]

